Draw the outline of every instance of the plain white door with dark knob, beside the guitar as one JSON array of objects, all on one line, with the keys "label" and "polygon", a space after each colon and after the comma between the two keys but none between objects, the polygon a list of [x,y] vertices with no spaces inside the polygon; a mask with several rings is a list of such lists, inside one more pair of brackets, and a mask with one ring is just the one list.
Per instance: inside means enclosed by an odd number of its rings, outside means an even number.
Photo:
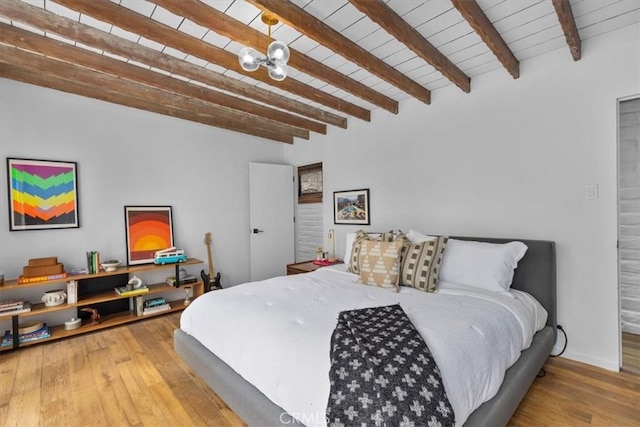
[{"label": "plain white door with dark knob, beside the guitar", "polygon": [[251,280],[283,276],[294,262],[293,166],[249,164]]}]

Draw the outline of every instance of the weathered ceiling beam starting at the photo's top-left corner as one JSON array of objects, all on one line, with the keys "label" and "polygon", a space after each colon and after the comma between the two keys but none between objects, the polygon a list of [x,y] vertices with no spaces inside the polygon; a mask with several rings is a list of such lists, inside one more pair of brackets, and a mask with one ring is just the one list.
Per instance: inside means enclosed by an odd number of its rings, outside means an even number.
[{"label": "weathered ceiling beam starting at the photo's top-left corner", "polygon": [[[341,128],[347,127],[347,119],[345,117],[224,76],[204,67],[181,61],[166,53],[158,52],[94,27],[56,15],[55,13],[29,5],[20,0],[0,1],[0,16],[170,73],[189,77],[210,86],[255,99],[274,107],[301,114],[314,120],[319,120]],[[312,130],[314,132],[326,133],[326,128],[324,131],[318,129]]]}]

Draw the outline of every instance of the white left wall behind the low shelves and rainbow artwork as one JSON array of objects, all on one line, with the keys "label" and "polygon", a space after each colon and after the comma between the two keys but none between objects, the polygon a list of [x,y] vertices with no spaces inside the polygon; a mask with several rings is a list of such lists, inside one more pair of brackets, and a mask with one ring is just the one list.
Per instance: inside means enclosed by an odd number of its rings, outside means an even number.
[{"label": "white left wall behind the low shelves and rainbow artwork", "polygon": [[[126,260],[125,205],[171,205],[175,243],[223,285],[250,278],[249,162],[282,163],[282,144],[0,79],[0,268],[29,258],[84,266],[87,250]],[[6,157],[78,162],[80,228],[9,232]],[[206,268],[206,264],[199,267]]]}]

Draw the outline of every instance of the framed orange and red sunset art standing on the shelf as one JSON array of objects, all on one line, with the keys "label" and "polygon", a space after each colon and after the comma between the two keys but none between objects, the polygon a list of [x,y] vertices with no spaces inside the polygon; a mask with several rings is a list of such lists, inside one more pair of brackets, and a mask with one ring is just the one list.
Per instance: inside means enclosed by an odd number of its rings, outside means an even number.
[{"label": "framed orange and red sunset art standing on the shelf", "polygon": [[171,206],[125,206],[127,264],[150,264],[156,251],[173,246]]}]

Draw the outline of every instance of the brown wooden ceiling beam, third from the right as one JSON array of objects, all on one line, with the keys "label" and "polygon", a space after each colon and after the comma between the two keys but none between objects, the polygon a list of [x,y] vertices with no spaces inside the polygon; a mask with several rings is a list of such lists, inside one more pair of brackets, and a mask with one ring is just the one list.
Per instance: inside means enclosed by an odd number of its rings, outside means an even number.
[{"label": "brown wooden ceiling beam, third from the right", "polygon": [[471,91],[471,79],[436,49],[422,34],[407,24],[382,0],[349,0],[360,12],[424,59],[463,91]]}]

